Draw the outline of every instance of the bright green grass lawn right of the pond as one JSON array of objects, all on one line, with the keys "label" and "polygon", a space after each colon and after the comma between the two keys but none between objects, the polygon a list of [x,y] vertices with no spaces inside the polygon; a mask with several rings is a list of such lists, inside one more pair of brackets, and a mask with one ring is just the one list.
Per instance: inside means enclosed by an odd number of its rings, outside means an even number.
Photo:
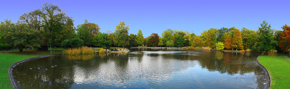
[{"label": "bright green grass lawn right of the pond", "polygon": [[271,75],[273,89],[290,88],[290,60],[284,56],[259,56],[259,62]]}]

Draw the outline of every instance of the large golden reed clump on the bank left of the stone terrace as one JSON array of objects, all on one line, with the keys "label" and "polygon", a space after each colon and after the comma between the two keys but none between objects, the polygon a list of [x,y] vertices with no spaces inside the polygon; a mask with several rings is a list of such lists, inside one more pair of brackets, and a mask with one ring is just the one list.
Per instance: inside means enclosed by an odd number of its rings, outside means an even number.
[{"label": "large golden reed clump on the bank left of the stone terrace", "polygon": [[86,46],[80,48],[68,48],[65,49],[64,55],[80,55],[80,54],[93,54],[94,50],[92,48],[88,48]]}]

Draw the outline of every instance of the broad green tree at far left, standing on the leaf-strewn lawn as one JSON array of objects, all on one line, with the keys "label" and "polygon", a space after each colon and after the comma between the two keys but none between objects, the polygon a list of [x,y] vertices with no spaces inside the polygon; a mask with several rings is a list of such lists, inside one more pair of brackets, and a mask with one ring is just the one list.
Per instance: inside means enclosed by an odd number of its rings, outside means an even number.
[{"label": "broad green tree at far left, standing on the leaf-strewn lawn", "polygon": [[2,24],[0,32],[5,32],[2,37],[9,46],[19,48],[20,52],[23,51],[23,48],[32,48],[33,46],[40,48],[39,30],[30,29],[26,23],[21,23],[20,21],[12,23],[8,19]]}]

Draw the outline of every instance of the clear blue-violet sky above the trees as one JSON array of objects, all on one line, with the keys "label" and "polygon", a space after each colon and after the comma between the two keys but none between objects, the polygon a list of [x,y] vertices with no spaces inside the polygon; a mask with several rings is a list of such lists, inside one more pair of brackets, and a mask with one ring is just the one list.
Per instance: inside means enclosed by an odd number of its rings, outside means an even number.
[{"label": "clear blue-violet sky above the trees", "polygon": [[74,18],[75,27],[87,19],[98,24],[100,32],[114,31],[120,21],[129,25],[129,34],[141,29],[144,37],[162,31],[188,30],[197,35],[210,28],[243,27],[257,30],[265,19],[273,29],[290,25],[287,0],[7,0],[0,1],[0,21],[17,21],[23,13],[55,3]]}]

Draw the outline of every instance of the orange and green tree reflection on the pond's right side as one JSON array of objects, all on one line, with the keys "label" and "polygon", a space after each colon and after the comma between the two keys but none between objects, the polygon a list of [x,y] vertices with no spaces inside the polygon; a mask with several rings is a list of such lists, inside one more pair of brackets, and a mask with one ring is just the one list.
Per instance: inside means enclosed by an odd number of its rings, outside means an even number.
[{"label": "orange and green tree reflection on the pond's right side", "polygon": [[[190,51],[189,51],[190,52]],[[198,51],[197,51],[198,52]],[[244,52],[222,52],[222,51],[203,51],[198,55],[195,51],[190,53],[177,53],[175,55],[162,54],[164,59],[174,58],[179,60],[198,60],[202,68],[209,71],[219,71],[229,75],[244,75],[249,72],[261,72],[261,68],[256,64],[258,54]],[[155,56],[155,55],[154,55]]]}]

